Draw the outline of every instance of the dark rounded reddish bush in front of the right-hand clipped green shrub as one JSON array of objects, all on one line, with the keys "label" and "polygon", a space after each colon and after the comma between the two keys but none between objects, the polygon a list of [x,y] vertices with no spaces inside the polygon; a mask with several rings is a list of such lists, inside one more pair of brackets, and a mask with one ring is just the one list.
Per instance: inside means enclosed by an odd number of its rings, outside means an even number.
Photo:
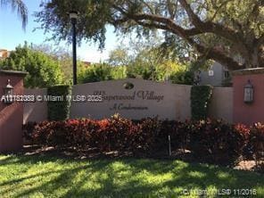
[{"label": "dark rounded reddish bush in front of the right-hand clipped green shrub", "polygon": [[190,150],[197,158],[218,164],[234,164],[247,143],[245,131],[221,120],[194,121],[190,133]]}]

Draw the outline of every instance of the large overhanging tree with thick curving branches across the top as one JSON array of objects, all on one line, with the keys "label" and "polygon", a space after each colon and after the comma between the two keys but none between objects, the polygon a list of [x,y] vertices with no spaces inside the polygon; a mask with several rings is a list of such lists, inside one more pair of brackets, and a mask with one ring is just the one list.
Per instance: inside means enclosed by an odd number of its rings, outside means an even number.
[{"label": "large overhanging tree with thick curving branches across the top", "polygon": [[[60,1],[42,4],[36,14],[54,37],[70,39],[67,12],[80,12],[78,40],[94,39],[103,47],[105,25],[118,32],[133,30],[148,35],[161,29],[167,38],[180,37],[202,59],[226,65],[229,70],[264,65],[263,0],[109,0]],[[169,43],[169,39],[167,39]],[[173,39],[170,39],[173,41]]]}]

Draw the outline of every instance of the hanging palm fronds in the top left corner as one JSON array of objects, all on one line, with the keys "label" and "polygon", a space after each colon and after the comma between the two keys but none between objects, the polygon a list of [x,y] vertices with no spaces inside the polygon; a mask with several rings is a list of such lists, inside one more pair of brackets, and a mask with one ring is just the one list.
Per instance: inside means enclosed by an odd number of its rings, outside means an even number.
[{"label": "hanging palm fronds in the top left corner", "polygon": [[22,28],[26,29],[28,23],[28,8],[23,0],[0,0],[1,7],[4,5],[11,5],[12,11],[17,11],[17,14],[22,20]]}]

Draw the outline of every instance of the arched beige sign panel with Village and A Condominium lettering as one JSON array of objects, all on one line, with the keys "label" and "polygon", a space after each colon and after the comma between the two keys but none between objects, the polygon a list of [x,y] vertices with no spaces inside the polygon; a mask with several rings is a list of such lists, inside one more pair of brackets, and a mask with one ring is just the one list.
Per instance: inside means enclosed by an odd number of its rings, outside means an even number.
[{"label": "arched beige sign panel with Village and A Condominium lettering", "polygon": [[[95,102],[73,102],[71,118],[91,117],[102,119],[120,113],[130,119],[159,116],[161,119],[190,119],[191,86],[157,83],[150,80],[128,78],[73,87],[72,95],[86,96]],[[77,99],[77,98],[76,98]]]}]

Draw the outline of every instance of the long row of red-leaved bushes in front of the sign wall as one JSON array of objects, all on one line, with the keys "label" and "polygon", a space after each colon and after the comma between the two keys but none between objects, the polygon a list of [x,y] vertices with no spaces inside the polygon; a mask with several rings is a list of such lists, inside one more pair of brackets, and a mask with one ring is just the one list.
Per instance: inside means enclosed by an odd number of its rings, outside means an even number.
[{"label": "long row of red-leaved bushes in front of the sign wall", "polygon": [[97,148],[153,156],[171,149],[189,150],[195,159],[234,164],[242,156],[263,159],[264,125],[252,128],[222,120],[128,120],[114,115],[104,120],[44,121],[24,126],[25,136],[36,144]]}]

